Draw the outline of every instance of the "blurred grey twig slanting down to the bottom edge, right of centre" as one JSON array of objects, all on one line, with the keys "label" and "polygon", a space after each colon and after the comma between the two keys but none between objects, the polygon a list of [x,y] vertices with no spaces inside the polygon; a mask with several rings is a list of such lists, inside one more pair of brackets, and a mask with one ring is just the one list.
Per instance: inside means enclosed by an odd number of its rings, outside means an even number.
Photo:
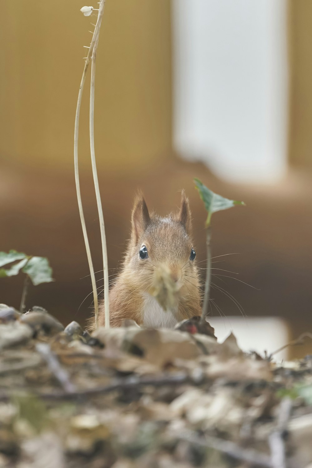
[{"label": "blurred grey twig slanting down to the bottom edge, right of centre", "polygon": [[193,434],[181,436],[179,439],[186,440],[191,444],[196,444],[206,448],[213,448],[218,452],[225,453],[240,461],[252,463],[255,466],[273,468],[270,457],[264,453],[257,452],[249,448],[242,448],[230,440],[218,439],[217,437],[205,436],[203,439],[197,438]]}]

